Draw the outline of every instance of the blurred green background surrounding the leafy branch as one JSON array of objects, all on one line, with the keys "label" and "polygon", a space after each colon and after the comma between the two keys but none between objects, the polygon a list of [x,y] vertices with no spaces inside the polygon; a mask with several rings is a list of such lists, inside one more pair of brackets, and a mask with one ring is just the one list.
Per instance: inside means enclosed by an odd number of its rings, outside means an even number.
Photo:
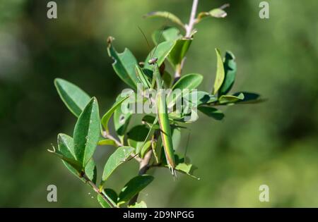
[{"label": "blurred green background surrounding the leafy branch", "polygon": [[[47,18],[47,2],[0,2],[0,206],[98,207],[90,187],[46,151],[57,133],[72,135],[76,123],[53,80],[65,78],[94,95],[104,113],[126,87],[112,70],[107,36],[141,61],[148,47],[137,26],[151,39],[164,23],[143,14],[171,11],[187,23],[192,1],[58,0],[56,20]],[[259,18],[259,2],[201,0],[198,11],[231,6],[227,18],[197,25],[183,73],[203,74],[201,90],[210,90],[214,48],[229,49],[238,64],[232,92],[259,92],[268,101],[226,107],[220,122],[201,115],[187,153],[201,180],[174,181],[167,170],[151,170],[155,180],[140,195],[148,206],[318,207],[318,2],[268,1],[268,20]],[[113,151],[98,147],[99,172]],[[108,186],[118,192],[137,170],[134,161],[124,164]],[[56,203],[47,202],[50,184],[57,185]],[[270,202],[259,202],[262,184],[269,185]]]}]

